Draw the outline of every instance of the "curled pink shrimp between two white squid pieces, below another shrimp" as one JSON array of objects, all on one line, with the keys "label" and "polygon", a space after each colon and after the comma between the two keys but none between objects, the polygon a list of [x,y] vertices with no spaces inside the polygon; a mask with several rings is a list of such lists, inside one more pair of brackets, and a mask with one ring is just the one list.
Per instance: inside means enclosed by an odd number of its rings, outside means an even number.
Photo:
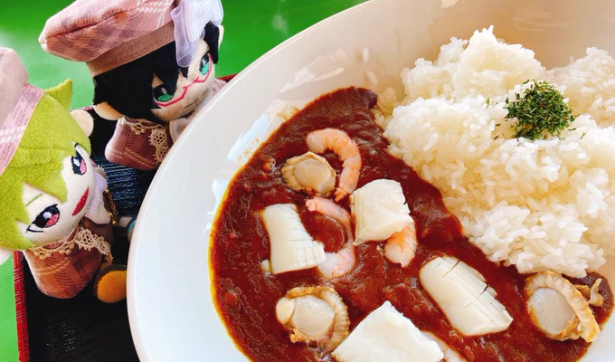
[{"label": "curled pink shrimp between two white squid pieces, below another shrimp", "polygon": [[317,211],[321,214],[336,220],[342,224],[346,232],[346,243],[338,252],[325,252],[325,262],[318,264],[317,269],[326,279],[338,278],[351,271],[355,266],[355,244],[353,237],[353,229],[350,225],[350,213],[344,207],[337,205],[333,201],[315,196],[311,200],[306,201],[306,206],[309,211]]}]

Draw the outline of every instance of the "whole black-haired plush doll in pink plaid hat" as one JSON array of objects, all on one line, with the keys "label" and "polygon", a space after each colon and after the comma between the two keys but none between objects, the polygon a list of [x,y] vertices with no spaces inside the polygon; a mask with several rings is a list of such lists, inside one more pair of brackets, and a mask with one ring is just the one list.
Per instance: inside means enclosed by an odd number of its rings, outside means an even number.
[{"label": "whole black-haired plush doll in pink plaid hat", "polygon": [[77,0],[47,21],[43,49],[86,62],[94,110],[118,119],[109,161],[141,170],[168,149],[224,81],[220,0]]}]

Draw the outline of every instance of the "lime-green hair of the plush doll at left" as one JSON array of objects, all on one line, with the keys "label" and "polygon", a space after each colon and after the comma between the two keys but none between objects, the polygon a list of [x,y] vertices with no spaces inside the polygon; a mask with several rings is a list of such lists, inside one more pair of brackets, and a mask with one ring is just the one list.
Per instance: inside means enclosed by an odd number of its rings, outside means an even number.
[{"label": "lime-green hair of the plush doll at left", "polygon": [[53,239],[37,233],[26,237],[18,224],[32,223],[23,200],[25,185],[66,203],[62,160],[77,156],[76,144],[90,153],[90,139],[68,112],[70,104],[71,81],[44,91],[13,160],[0,177],[0,247],[24,250]]}]

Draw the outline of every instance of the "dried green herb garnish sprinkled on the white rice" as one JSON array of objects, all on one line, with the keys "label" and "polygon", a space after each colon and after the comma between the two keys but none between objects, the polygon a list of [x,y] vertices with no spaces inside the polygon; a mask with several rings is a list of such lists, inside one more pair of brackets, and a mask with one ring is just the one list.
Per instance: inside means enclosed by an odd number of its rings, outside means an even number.
[{"label": "dried green herb garnish sprinkled on the white rice", "polygon": [[506,98],[507,119],[517,119],[515,138],[547,139],[560,136],[574,116],[572,109],[563,101],[563,95],[546,81],[527,80],[530,83],[524,97],[516,93],[516,100]]}]

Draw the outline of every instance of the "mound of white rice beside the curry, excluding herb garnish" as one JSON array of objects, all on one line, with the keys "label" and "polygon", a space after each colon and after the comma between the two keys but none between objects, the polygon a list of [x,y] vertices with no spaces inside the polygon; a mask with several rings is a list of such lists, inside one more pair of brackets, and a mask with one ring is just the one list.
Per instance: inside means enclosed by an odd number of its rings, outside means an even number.
[{"label": "mound of white rice beside the curry, excluding herb garnish", "polygon": [[[558,84],[580,114],[576,129],[561,139],[513,138],[503,101],[527,79]],[[545,71],[534,52],[498,42],[489,28],[469,42],[451,39],[435,62],[402,71],[402,81],[405,99],[381,94],[376,121],[490,260],[583,276],[615,253],[615,61],[607,52],[590,48]]]}]

